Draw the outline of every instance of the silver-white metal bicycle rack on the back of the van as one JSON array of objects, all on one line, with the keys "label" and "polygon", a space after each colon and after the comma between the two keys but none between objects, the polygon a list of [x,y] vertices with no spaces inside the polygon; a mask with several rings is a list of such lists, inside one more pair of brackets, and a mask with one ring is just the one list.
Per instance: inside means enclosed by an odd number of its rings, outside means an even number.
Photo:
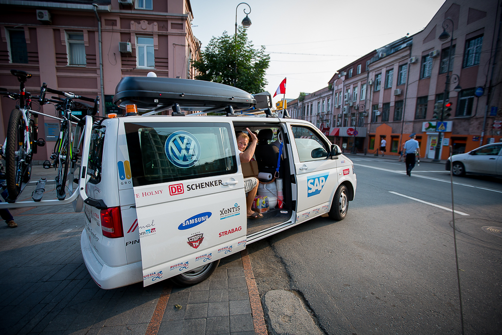
[{"label": "silver-white metal bicycle rack on the back of the van", "polygon": [[[55,205],[66,205],[69,203],[73,204],[73,209],[75,212],[82,211],[82,206],[84,200],[87,199],[87,194],[85,194],[85,183],[87,181],[87,164],[89,162],[89,148],[90,148],[90,138],[92,131],[92,117],[85,117],[85,125],[84,125],[84,141],[83,141],[83,150],[82,150],[82,159],[80,163],[80,176],[78,178],[78,187],[73,189],[73,178],[69,178],[68,180],[68,188],[70,189],[71,196],[64,200],[51,199],[51,200],[40,200],[40,201],[17,201],[13,203],[2,202],[0,203],[0,209],[13,209],[13,208],[23,208],[23,207],[40,207],[40,206],[55,206]],[[78,127],[78,126],[77,126]],[[69,172],[70,175],[73,175],[75,167],[73,166]],[[46,185],[52,185],[55,183],[55,180],[47,180]],[[36,185],[36,181],[31,181],[27,186]]]}]

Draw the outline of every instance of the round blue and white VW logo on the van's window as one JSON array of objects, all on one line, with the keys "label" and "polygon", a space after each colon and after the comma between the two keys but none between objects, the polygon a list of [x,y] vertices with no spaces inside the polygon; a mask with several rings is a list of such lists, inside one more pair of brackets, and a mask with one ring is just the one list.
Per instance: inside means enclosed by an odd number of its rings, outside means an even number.
[{"label": "round blue and white VW logo on the van's window", "polygon": [[177,167],[186,169],[189,168],[200,158],[199,141],[183,130],[176,131],[169,135],[166,140],[166,155],[167,159]]}]

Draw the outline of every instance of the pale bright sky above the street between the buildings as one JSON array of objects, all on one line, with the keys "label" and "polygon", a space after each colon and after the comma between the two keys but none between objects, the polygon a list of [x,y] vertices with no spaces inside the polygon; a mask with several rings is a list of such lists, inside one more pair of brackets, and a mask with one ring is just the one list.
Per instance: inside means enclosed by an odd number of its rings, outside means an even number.
[{"label": "pale bright sky above the street between the buildings", "polygon": [[[235,31],[240,1],[190,0],[192,31],[202,42]],[[249,13],[248,40],[270,54],[265,90],[274,95],[284,78],[286,98],[328,85],[333,74],[365,54],[416,34],[444,0],[248,0],[237,8],[237,25]],[[259,93],[259,92],[249,92]],[[277,102],[281,96],[273,98]]]}]

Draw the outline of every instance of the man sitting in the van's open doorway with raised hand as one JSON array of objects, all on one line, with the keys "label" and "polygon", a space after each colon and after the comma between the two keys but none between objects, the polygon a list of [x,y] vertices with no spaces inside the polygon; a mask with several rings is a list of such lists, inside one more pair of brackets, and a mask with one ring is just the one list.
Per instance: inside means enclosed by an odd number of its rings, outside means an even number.
[{"label": "man sitting in the van's open doorway with raised hand", "polygon": [[[249,143],[249,137],[246,133],[237,134],[237,150],[239,151],[239,158],[241,163],[249,163],[255,154],[256,144],[258,143],[258,138],[253,134],[248,128],[246,128],[247,133],[251,137],[251,144],[246,149]],[[249,218],[259,218],[263,217],[261,213],[257,213],[251,209],[253,201],[255,200],[256,193],[258,191],[258,179],[255,177],[244,178],[244,192],[247,193],[246,196],[246,216]]]}]

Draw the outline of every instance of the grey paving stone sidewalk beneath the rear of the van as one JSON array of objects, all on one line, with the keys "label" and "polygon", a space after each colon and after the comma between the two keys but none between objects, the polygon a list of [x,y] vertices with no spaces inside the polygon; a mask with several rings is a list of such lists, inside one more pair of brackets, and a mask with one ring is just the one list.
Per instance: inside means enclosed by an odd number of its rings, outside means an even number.
[{"label": "grey paving stone sidewalk beneath the rear of the van", "polygon": [[[40,176],[51,178],[53,170],[34,166],[32,180]],[[55,198],[49,187],[44,200]],[[34,188],[21,200],[31,199]],[[11,212],[18,228],[0,222],[1,334],[255,334],[240,254],[222,259],[208,280],[189,288],[166,280],[103,290],[80,252],[83,213],[71,204]],[[152,327],[166,290],[160,324]]]}]

